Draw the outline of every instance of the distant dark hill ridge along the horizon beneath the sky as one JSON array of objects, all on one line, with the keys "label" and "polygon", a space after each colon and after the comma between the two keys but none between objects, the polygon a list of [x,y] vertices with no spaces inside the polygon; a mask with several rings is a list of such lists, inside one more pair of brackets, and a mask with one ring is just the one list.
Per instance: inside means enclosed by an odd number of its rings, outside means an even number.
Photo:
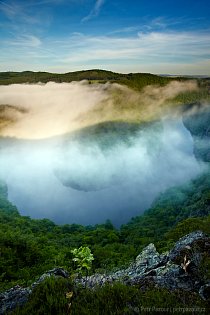
[{"label": "distant dark hill ridge along the horizon beneath the sky", "polygon": [[[122,74],[106,70],[84,70],[68,73],[50,73],[50,72],[0,72],[0,85],[21,84],[21,83],[47,83],[47,82],[72,82],[87,80],[92,83],[119,83],[128,86],[134,90],[140,91],[148,85],[165,86],[172,81],[192,80],[190,77],[167,77],[154,75],[151,73],[129,73]],[[199,86],[198,91],[180,93],[173,103],[189,104],[199,102],[201,100],[210,100],[210,79],[209,78],[193,78]]]}]

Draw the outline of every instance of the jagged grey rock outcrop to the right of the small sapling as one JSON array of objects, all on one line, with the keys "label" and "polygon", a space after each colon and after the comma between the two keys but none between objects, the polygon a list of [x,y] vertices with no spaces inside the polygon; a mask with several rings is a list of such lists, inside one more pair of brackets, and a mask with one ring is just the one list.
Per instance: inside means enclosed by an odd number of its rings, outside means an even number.
[{"label": "jagged grey rock outcrop to the right of the small sapling", "polygon": [[[109,275],[94,274],[87,279],[76,279],[76,282],[89,288],[120,281],[128,285],[138,284],[140,287],[153,284],[169,290],[199,292],[204,285],[199,274],[199,264],[202,254],[208,251],[210,238],[203,232],[196,231],[181,238],[169,253],[160,255],[154,244],[149,244],[127,269]],[[200,292],[203,298],[203,291]]]}]

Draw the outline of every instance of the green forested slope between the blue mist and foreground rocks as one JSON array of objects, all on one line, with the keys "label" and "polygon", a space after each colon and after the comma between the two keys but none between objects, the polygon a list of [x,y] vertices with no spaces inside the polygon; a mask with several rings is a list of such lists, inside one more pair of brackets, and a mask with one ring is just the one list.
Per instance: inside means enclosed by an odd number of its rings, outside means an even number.
[{"label": "green forested slope between the blue mist and foreground rocks", "polygon": [[21,216],[6,198],[1,184],[1,290],[29,284],[55,266],[72,270],[71,249],[89,246],[93,270],[111,270],[128,264],[151,242],[164,251],[179,237],[201,229],[210,233],[210,179],[206,173],[192,183],[168,190],[144,215],[116,229],[104,224],[58,226],[48,219]]}]

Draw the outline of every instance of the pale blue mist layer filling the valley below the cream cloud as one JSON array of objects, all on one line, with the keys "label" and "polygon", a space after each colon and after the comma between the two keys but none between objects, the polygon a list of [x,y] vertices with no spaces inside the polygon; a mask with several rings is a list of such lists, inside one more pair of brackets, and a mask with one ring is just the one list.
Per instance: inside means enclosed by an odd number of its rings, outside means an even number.
[{"label": "pale blue mist layer filling the valley below the cream cloud", "polygon": [[9,199],[24,215],[80,224],[109,218],[119,226],[202,166],[182,121],[167,120],[105,147],[71,137],[4,139],[0,169]]}]

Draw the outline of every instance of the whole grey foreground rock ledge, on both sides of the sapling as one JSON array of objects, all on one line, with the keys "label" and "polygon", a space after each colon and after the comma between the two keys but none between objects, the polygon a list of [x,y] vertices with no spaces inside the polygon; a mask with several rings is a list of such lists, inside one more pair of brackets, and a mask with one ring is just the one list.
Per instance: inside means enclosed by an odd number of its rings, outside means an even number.
[{"label": "whole grey foreground rock ledge, on both sides of the sapling", "polygon": [[[118,281],[138,285],[143,290],[153,285],[169,290],[194,291],[207,300],[210,297],[210,282],[205,282],[199,273],[203,253],[210,253],[210,238],[196,231],[182,237],[168,253],[159,254],[154,244],[149,244],[128,268],[110,274],[77,277],[75,285],[95,288]],[[33,294],[33,289],[51,276],[68,278],[69,274],[62,268],[55,268],[43,274],[30,288],[15,286],[1,293],[0,314],[23,305]]]}]

